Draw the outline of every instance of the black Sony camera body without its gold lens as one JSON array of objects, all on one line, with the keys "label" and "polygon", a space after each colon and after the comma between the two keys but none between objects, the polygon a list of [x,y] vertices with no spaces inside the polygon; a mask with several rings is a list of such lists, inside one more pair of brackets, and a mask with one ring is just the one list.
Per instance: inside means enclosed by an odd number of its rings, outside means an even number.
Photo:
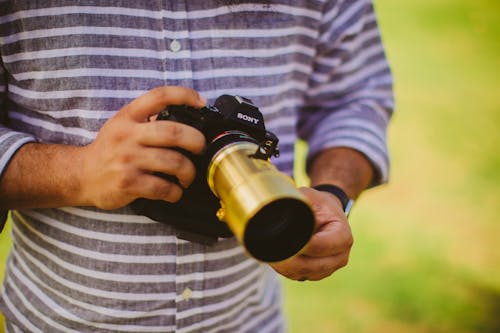
[{"label": "black Sony camera body without its gold lens", "polygon": [[[207,168],[218,151],[241,142],[258,146],[252,158],[268,160],[271,156],[279,156],[278,138],[266,130],[262,113],[249,99],[222,95],[214,105],[199,109],[186,105],[169,106],[158,114],[157,120],[176,121],[200,130],[207,146],[200,155],[176,148],[196,167],[195,180],[178,202],[138,199],[132,204],[133,210],[155,221],[173,225],[178,236],[188,240],[210,244],[218,237],[233,236],[227,224],[217,218],[221,205],[207,184]],[[158,176],[177,182],[171,175]]]}]

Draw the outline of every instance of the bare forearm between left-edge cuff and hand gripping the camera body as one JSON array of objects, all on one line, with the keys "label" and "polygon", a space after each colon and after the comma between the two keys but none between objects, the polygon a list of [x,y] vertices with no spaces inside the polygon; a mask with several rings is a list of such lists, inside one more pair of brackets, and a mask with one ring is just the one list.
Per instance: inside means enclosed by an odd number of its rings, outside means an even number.
[{"label": "bare forearm between left-edge cuff and hand gripping the camera body", "polygon": [[0,178],[0,208],[85,205],[81,194],[81,147],[28,143]]}]

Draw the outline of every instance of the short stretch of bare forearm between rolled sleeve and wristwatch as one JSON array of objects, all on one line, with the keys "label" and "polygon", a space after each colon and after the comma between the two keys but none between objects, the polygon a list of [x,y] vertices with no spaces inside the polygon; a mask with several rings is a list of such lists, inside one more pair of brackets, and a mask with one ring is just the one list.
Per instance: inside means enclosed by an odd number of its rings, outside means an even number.
[{"label": "short stretch of bare forearm between rolled sleeve and wristwatch", "polygon": [[311,186],[333,184],[356,199],[372,184],[374,169],[360,152],[350,148],[331,148],[320,152],[309,168]]}]

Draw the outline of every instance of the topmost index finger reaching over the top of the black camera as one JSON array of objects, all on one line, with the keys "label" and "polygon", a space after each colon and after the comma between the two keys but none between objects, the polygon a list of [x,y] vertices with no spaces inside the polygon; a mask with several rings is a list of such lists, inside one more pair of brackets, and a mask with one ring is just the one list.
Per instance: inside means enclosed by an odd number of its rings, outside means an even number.
[{"label": "topmost index finger reaching over the top of the black camera", "polygon": [[206,99],[191,88],[163,86],[154,88],[134,99],[122,109],[122,112],[136,121],[145,122],[167,105],[189,105],[201,108],[206,105]]}]

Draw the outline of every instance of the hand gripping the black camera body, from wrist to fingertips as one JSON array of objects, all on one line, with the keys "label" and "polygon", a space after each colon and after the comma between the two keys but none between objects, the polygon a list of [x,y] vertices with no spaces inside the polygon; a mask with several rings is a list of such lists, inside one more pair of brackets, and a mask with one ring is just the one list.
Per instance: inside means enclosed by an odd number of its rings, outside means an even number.
[{"label": "hand gripping the black camera body, from wrist to fingertips", "polygon": [[[195,177],[193,163],[176,150],[201,153],[205,138],[193,127],[149,121],[168,105],[205,106],[197,92],[159,87],[133,100],[109,119],[84,147],[83,200],[103,209],[119,208],[137,198],[175,202]],[[180,185],[154,173],[177,177]]]}]

